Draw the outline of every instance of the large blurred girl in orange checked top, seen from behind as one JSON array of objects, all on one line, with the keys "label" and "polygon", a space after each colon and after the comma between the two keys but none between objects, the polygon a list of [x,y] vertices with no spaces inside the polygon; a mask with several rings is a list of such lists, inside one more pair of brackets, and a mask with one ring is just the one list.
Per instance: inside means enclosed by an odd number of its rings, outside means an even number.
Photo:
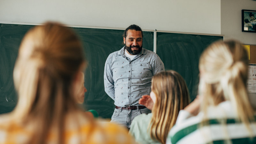
[{"label": "large blurred girl in orange checked top, seen from behind", "polygon": [[15,109],[0,116],[0,143],[134,143],[126,129],[86,117],[75,99],[86,65],[68,27],[46,23],[29,30],[14,67]]}]

